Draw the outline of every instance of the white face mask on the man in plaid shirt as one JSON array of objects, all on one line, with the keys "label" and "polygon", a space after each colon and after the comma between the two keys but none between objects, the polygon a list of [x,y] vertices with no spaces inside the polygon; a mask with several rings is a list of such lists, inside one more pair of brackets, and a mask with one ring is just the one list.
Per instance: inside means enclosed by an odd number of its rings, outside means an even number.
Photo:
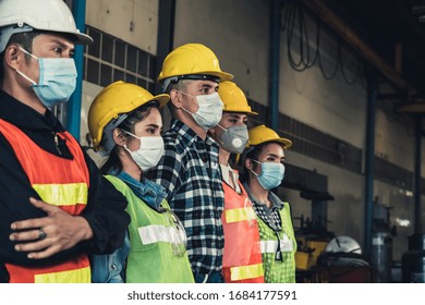
[{"label": "white face mask on the man in plaid shirt", "polygon": [[217,126],[222,117],[222,108],[223,103],[220,99],[218,93],[214,93],[210,95],[199,95],[193,96],[183,91],[180,91],[184,95],[196,98],[198,109],[196,113],[192,113],[191,111],[182,108],[187,113],[191,113],[195,122],[203,127],[204,131],[212,129]]}]

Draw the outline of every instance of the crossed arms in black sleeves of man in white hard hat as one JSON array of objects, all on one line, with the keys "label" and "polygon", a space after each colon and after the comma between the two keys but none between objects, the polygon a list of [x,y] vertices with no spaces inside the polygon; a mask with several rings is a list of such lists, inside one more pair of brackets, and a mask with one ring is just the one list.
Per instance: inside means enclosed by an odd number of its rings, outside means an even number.
[{"label": "crossed arms in black sleeves of man in white hard hat", "polygon": [[130,223],[127,202],[88,156],[86,161],[88,204],[81,216],[72,216],[40,200],[13,158],[0,158],[0,263],[39,266],[81,252],[112,253],[122,245]]}]

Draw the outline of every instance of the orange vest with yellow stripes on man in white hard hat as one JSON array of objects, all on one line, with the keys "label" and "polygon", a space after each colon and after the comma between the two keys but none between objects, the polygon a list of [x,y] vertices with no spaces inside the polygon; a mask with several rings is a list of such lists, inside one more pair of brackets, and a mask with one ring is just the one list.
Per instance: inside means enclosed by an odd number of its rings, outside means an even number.
[{"label": "orange vest with yellow stripes on man in white hard hat", "polygon": [[[65,139],[73,160],[57,157],[35,144],[15,125],[0,120],[0,132],[12,146],[40,198],[71,215],[81,215],[87,204],[88,169],[76,139],[68,132],[58,133]],[[53,266],[23,267],[5,264],[12,283],[89,283],[90,267],[86,254]]]}]

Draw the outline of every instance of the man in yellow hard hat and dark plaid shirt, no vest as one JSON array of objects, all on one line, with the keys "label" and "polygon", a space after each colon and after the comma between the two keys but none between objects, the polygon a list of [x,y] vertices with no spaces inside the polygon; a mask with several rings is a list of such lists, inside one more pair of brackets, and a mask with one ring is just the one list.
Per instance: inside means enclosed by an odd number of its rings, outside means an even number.
[{"label": "man in yellow hard hat and dark plaid shirt, no vest", "polygon": [[196,282],[222,282],[223,191],[218,145],[207,134],[221,119],[216,54],[202,44],[186,44],[163,61],[158,82],[170,95],[171,126],[165,133],[165,156],[149,175],[168,191],[170,207],[187,232],[187,253]]}]

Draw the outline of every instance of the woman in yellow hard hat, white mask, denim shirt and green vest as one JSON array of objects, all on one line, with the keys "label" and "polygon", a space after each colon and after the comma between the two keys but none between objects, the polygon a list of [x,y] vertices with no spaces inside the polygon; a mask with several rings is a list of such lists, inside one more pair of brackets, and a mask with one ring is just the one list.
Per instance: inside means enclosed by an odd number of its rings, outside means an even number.
[{"label": "woman in yellow hard hat, white mask, denim shirt and green vest", "polygon": [[109,156],[100,171],[127,199],[131,217],[125,245],[92,257],[93,282],[194,282],[186,235],[167,203],[166,190],[145,179],[163,155],[159,110],[169,96],[116,82],[105,87],[88,111],[95,150]]}]

